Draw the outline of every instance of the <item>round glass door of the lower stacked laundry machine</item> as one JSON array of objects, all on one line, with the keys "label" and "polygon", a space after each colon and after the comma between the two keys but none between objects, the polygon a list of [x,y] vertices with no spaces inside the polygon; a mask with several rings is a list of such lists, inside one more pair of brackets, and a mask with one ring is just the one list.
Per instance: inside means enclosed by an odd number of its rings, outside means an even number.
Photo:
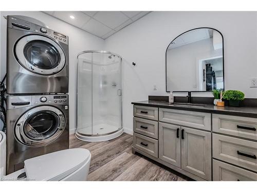
[{"label": "round glass door of the lower stacked laundry machine", "polygon": [[65,116],[53,106],[38,106],[24,113],[15,124],[16,138],[29,146],[46,145],[65,128]]}]

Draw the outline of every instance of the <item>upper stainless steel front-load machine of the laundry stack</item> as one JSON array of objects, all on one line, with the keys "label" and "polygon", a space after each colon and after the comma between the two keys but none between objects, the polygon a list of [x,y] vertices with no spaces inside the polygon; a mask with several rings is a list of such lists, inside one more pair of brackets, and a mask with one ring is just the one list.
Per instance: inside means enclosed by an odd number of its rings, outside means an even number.
[{"label": "upper stainless steel front-load machine of the laundry stack", "polygon": [[68,93],[68,36],[7,17],[7,93]]}]

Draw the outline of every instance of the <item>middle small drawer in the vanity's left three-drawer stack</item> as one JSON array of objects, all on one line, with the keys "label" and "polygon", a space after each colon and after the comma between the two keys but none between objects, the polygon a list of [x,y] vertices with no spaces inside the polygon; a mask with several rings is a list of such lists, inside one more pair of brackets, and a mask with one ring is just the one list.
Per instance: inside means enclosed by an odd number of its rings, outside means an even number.
[{"label": "middle small drawer in the vanity's left three-drawer stack", "polygon": [[133,117],[133,131],[158,139],[158,122]]}]

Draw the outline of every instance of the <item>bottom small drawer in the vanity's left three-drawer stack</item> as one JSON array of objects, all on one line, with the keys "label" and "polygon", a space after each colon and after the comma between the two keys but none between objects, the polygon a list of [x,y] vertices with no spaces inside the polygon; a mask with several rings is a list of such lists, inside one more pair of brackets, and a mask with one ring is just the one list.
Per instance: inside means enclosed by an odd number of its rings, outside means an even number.
[{"label": "bottom small drawer in the vanity's left three-drawer stack", "polygon": [[133,146],[158,158],[158,140],[134,133]]}]

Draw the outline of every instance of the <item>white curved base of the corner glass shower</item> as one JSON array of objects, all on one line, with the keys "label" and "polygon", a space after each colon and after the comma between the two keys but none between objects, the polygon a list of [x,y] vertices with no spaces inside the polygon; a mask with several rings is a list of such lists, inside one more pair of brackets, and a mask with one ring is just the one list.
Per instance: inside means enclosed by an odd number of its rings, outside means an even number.
[{"label": "white curved base of the corner glass shower", "polygon": [[[92,133],[93,130],[93,133]],[[119,137],[123,133],[123,129],[118,129],[117,126],[113,126],[106,123],[101,123],[85,127],[76,131],[75,136],[82,140],[88,142],[99,142],[107,141]]]}]

